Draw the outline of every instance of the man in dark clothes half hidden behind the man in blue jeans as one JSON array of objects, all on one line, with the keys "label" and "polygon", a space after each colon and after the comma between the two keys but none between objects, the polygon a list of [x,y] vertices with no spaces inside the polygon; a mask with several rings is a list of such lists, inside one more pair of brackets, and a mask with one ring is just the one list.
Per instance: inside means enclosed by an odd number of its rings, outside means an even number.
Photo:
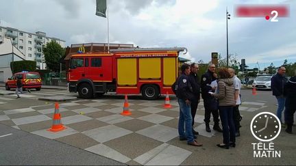
[{"label": "man in dark clothes half hidden behind the man in blue jeans", "polygon": [[[199,66],[198,64],[191,64],[190,65],[190,69],[191,69],[191,72],[188,76],[189,78],[189,81],[190,81],[190,85],[191,87],[193,88],[193,100],[191,101],[191,115],[193,117],[193,125],[194,125],[194,119],[195,119],[195,114],[196,114],[196,111],[197,111],[197,106],[198,106],[198,103],[199,103],[199,100],[200,100],[200,83],[199,83],[199,77],[197,75],[197,72],[199,70]],[[193,134],[194,135],[199,135],[199,133],[197,131],[195,131],[193,129]]]}]

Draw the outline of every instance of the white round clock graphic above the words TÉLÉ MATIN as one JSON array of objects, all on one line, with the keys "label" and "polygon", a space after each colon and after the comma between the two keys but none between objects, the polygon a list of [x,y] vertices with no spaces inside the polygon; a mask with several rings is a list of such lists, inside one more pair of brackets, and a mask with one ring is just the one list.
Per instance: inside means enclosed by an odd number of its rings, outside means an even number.
[{"label": "white round clock graphic above the words T\u00c9L\u00c9 MATIN", "polygon": [[272,141],[281,131],[281,123],[276,115],[270,112],[258,113],[251,120],[251,133],[259,141]]}]

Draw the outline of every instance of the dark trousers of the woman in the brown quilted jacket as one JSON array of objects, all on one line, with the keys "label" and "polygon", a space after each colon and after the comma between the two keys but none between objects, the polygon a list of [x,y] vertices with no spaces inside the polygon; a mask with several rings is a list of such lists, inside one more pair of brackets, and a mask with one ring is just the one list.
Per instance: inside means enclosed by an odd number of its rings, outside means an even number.
[{"label": "dark trousers of the woman in the brown quilted jacket", "polygon": [[223,143],[225,143],[226,145],[229,145],[230,141],[235,143],[233,107],[220,106],[219,113],[220,113],[221,124],[223,128]]}]

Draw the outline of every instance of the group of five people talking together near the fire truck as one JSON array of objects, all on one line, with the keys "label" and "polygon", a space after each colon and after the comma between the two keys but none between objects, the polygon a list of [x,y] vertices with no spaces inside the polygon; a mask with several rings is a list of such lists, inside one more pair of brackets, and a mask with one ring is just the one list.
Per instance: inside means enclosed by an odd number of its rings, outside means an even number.
[{"label": "group of five people talking together near the fire truck", "polygon": [[[214,119],[212,129],[223,133],[223,143],[219,143],[217,146],[229,149],[230,146],[236,146],[235,139],[240,135],[241,116],[238,105],[240,105],[241,83],[232,68],[220,68],[219,79],[215,69],[214,64],[209,64],[208,71],[199,79],[197,76],[198,64],[183,64],[181,66],[182,74],[173,85],[180,106],[178,133],[180,140],[187,140],[188,145],[202,146],[202,143],[197,142],[195,136],[199,133],[193,129],[201,93],[201,97],[204,99],[206,131],[211,132],[210,115],[212,113]],[[219,126],[219,115],[222,129]]]}]

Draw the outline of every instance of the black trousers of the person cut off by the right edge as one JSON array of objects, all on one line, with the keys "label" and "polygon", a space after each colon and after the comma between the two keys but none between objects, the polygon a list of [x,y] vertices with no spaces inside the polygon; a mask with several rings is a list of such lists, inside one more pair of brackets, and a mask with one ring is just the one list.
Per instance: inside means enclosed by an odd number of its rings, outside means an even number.
[{"label": "black trousers of the person cut off by the right edge", "polygon": [[286,102],[285,102],[286,110],[284,112],[286,124],[294,123],[294,113],[296,111],[295,102],[296,102],[296,98],[286,98]]}]

